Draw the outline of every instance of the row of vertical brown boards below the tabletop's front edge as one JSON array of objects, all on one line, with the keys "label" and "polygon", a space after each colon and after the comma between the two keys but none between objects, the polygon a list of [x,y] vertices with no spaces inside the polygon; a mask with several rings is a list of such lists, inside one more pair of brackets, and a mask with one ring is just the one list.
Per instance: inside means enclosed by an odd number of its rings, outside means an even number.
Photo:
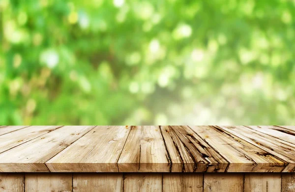
[{"label": "row of vertical brown boards below the tabletop's front edge", "polygon": [[295,192],[293,173],[0,173],[0,192]]}]

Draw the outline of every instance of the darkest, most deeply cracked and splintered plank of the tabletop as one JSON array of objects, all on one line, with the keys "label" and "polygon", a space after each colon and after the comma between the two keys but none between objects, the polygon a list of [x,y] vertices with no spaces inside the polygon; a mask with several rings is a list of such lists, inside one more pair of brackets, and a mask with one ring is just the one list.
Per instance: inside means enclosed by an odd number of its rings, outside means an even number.
[{"label": "darkest, most deeply cracked and splintered plank of the tabletop", "polygon": [[[226,170],[229,163],[211,146],[209,146],[201,137],[199,137],[195,132],[193,132],[188,126],[170,127],[185,146],[185,148],[182,151],[186,150],[189,156],[193,159],[193,171],[224,172]],[[167,130],[165,130],[165,132],[166,131]],[[182,155],[182,157],[185,156]],[[190,169],[185,170],[186,167],[187,166],[184,164],[184,171],[193,172]]]}]

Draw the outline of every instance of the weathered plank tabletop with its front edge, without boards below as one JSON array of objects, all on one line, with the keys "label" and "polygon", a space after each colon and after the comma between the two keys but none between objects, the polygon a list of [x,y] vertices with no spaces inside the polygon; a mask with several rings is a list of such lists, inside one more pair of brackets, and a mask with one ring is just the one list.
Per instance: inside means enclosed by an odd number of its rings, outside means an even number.
[{"label": "weathered plank tabletop with its front edge, without boards below", "polygon": [[295,172],[295,126],[1,126],[0,172]]}]

